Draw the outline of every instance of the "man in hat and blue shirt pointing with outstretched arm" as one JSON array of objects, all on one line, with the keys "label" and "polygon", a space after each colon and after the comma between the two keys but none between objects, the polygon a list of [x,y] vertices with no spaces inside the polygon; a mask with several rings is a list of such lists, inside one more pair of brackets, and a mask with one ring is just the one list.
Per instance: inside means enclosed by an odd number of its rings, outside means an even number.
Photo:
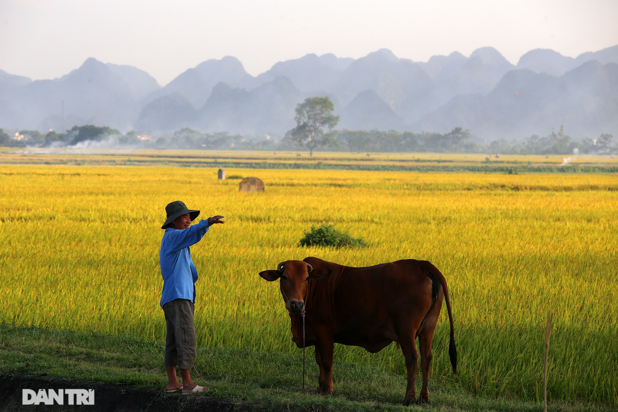
[{"label": "man in hat and blue shirt pointing with outstretched arm", "polygon": [[[197,270],[191,260],[189,246],[196,244],[208,228],[221,221],[222,216],[213,216],[191,226],[199,210],[188,210],[183,202],[176,200],[165,207],[167,220],[159,251],[159,264],[163,276],[161,307],[165,313],[167,333],[163,364],[167,367],[167,392],[204,392],[204,387],[192,382],[189,369],[197,355],[193,311],[195,304],[195,281]],[[176,364],[180,369],[182,384],[176,377]],[[206,389],[208,390],[208,389]]]}]

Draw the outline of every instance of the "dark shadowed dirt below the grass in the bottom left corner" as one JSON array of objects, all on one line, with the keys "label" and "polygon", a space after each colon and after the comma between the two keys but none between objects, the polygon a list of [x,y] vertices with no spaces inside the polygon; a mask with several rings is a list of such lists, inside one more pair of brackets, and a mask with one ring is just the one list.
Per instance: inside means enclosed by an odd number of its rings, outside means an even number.
[{"label": "dark shadowed dirt below the grass in the bottom left corner", "polygon": [[[95,405],[22,405],[22,389],[91,389],[95,390]],[[163,412],[163,411],[237,411],[226,400],[205,395],[168,394],[163,390],[127,387],[114,384],[88,384],[73,380],[53,379],[42,376],[0,376],[0,412],[40,410],[67,411],[87,410],[114,412]]]}]

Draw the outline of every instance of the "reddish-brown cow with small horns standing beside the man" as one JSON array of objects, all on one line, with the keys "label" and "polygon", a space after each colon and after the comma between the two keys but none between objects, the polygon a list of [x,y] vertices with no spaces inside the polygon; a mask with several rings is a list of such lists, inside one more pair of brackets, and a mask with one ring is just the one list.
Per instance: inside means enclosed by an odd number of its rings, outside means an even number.
[{"label": "reddish-brown cow with small horns standing beside the man", "polygon": [[457,373],[457,350],[451,303],[442,273],[426,260],[397,260],[370,267],[338,265],[317,257],[287,260],[277,270],[260,276],[268,281],[281,278],[279,289],[292,321],[292,341],[302,348],[305,311],[305,345],[315,345],[320,367],[318,392],[332,392],[334,343],[361,346],[376,353],[392,341],[401,345],[408,371],[404,404],[416,400],[417,348],[421,353],[423,387],[418,402],[429,401],[428,377],[431,340],[438,322],[442,299],[451,323],[449,356]]}]

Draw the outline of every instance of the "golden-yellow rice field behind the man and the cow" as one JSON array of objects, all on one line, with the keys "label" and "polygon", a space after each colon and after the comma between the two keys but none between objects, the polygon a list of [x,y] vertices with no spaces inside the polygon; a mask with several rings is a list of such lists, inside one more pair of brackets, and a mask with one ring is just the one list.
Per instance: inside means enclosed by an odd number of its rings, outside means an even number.
[{"label": "golden-yellow rice field behind the man and the cow", "polygon": [[[0,166],[0,322],[163,339],[159,227],[183,200],[227,221],[192,247],[199,345],[298,353],[277,285],[258,277],[281,260],[427,259],[449,283],[460,365],[453,376],[443,313],[430,385],[542,399],[552,311],[549,398],[618,405],[617,176],[233,174],[262,178],[266,192],[240,193],[211,168]],[[323,222],[370,247],[297,246]],[[394,344],[337,345],[336,361],[405,370]]]}]

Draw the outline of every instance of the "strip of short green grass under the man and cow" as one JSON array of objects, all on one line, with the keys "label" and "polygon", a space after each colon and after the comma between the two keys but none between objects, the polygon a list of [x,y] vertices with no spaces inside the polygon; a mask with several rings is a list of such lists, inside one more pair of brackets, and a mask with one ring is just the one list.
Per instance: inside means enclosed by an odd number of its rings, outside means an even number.
[{"label": "strip of short green grass under the man and cow", "polygon": [[[0,324],[0,374],[43,375],[82,382],[129,384],[163,390],[163,341]],[[405,379],[363,364],[336,362],[335,393],[317,395],[317,367],[308,357],[301,390],[302,356],[249,349],[198,348],[196,367],[210,393],[252,410],[311,411],[521,411],[541,403],[514,397],[475,397],[455,385],[430,381],[429,406],[400,405]],[[194,382],[203,384],[192,371]],[[418,383],[418,382],[417,382]],[[584,403],[554,402],[550,411],[603,411]]]}]

